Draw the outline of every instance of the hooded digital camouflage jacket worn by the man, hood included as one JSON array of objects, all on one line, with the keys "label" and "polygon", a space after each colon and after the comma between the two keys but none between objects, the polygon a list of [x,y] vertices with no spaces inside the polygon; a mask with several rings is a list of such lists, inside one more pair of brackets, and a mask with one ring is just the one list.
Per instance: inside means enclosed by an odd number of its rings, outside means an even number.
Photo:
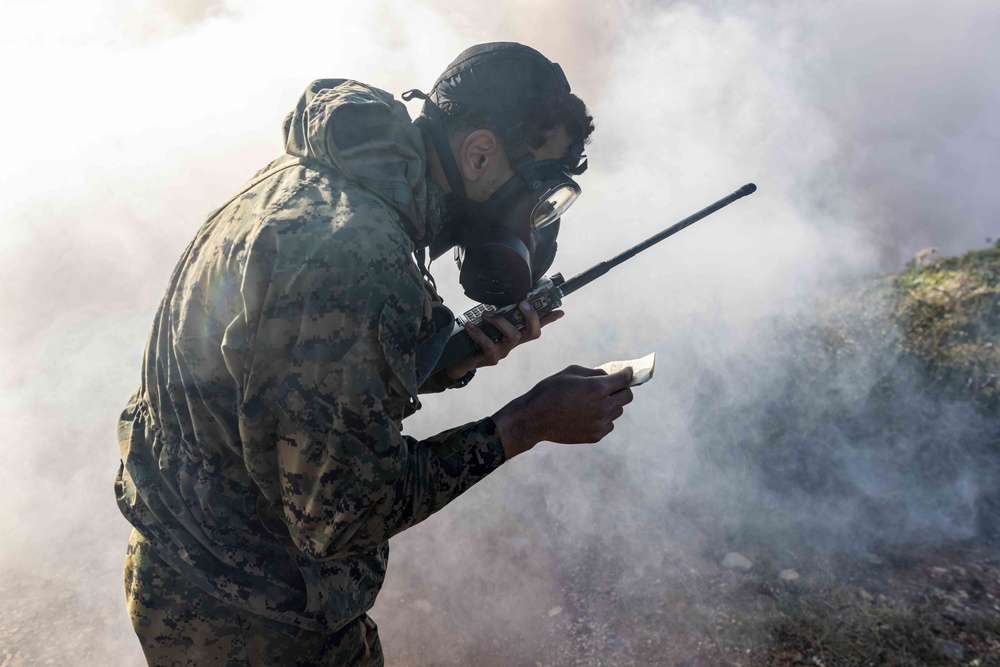
[{"label": "hooded digital camouflage jacket worn by the man, hood included", "polygon": [[441,227],[419,130],[384,91],[314,82],[287,155],[212,213],[170,279],[118,426],[118,505],[232,604],[331,630],[371,608],[389,537],[504,461],[491,419],[416,441],[413,260]]}]

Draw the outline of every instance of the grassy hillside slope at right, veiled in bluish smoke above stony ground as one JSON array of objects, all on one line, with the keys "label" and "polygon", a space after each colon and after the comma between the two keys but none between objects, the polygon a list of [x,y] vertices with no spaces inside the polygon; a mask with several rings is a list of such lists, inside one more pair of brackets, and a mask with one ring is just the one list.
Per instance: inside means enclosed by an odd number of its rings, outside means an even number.
[{"label": "grassy hillside slope at right, veiled in bluish smoke above stony ground", "polygon": [[816,297],[705,373],[704,474],[746,536],[884,543],[1000,521],[1000,247]]}]

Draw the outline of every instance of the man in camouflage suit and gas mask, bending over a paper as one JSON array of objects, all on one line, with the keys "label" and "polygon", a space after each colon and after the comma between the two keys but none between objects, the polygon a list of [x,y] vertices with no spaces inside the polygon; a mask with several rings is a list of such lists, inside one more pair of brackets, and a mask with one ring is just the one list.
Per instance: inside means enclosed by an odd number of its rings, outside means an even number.
[{"label": "man in camouflage suit and gas mask, bending over a paper", "polygon": [[425,249],[460,249],[471,296],[523,298],[593,130],[559,66],[520,44],[468,49],[408,95],[426,100],[412,123],[377,88],[310,85],[286,154],[171,276],[115,482],[151,665],[381,665],[366,612],[388,539],[538,442],[599,441],[631,401],[630,371],[571,366],[490,417],[402,434],[418,393],[464,386],[561,315],[521,302],[523,332],[470,327],[480,353],[427,377],[453,318]]}]

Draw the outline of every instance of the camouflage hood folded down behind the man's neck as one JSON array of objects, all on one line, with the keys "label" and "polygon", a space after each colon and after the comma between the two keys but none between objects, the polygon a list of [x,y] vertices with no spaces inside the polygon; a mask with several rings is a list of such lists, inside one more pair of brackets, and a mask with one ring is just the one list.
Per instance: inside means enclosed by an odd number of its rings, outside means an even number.
[{"label": "camouflage hood folded down behind the man's neck", "polygon": [[423,138],[391,94],[318,79],[285,117],[283,132],[286,153],[340,172],[399,211],[418,247],[440,231],[442,195],[426,174]]}]

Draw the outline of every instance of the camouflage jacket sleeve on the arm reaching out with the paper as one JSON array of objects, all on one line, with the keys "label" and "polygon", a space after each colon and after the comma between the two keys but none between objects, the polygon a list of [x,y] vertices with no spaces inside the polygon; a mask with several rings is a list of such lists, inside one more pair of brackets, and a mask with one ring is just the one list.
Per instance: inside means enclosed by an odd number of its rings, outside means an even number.
[{"label": "camouflage jacket sleeve on the arm reaching out with the paper", "polygon": [[491,419],[422,442],[400,431],[429,301],[405,240],[365,223],[392,215],[365,197],[313,208],[265,227],[247,264],[244,459],[314,559],[386,541],[504,461]]}]

